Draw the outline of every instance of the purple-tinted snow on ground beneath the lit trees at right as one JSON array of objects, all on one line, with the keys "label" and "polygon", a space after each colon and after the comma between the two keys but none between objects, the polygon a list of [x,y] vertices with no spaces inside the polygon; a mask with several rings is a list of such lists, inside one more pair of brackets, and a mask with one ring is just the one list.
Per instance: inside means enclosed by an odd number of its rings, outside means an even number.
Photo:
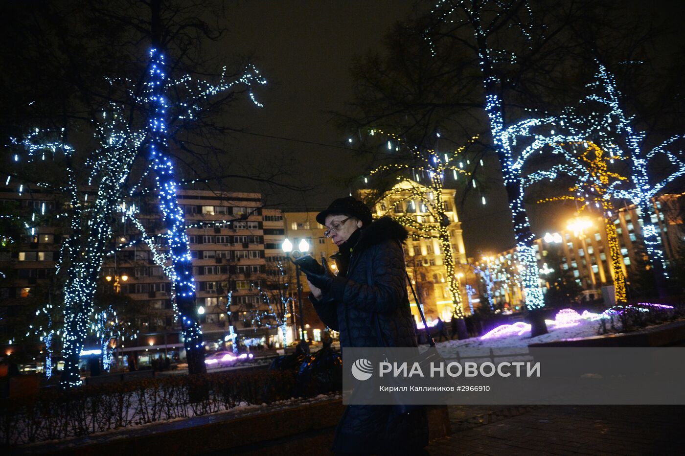
[{"label": "purple-tinted snow on ground beneath the lit trees at right", "polygon": [[530,329],[523,334],[513,333],[495,338],[486,338],[482,340],[480,337],[469,338],[464,340],[447,340],[446,342],[438,342],[438,348],[455,348],[455,349],[470,349],[470,348],[515,348],[527,347],[528,344],[538,342],[552,342],[553,340],[586,338],[592,335],[597,335],[597,328],[599,323],[595,320],[580,319],[577,325],[574,326],[559,326],[550,323],[547,320],[547,329],[549,333],[538,335],[536,338],[530,337]]}]

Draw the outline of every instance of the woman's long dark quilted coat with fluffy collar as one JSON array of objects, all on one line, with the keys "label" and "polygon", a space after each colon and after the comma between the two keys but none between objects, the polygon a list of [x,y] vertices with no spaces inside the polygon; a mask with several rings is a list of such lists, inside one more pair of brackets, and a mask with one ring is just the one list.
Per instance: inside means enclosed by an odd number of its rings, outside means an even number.
[{"label": "woman's long dark quilted coat with fluffy collar", "polygon": [[[407,230],[390,217],[362,228],[347,274],[338,275],[321,300],[310,295],[321,320],[340,331],[343,348],[416,346],[400,244],[407,236]],[[427,442],[423,408],[399,414],[390,405],[348,405],[336,428],[333,451],[416,454]]]}]

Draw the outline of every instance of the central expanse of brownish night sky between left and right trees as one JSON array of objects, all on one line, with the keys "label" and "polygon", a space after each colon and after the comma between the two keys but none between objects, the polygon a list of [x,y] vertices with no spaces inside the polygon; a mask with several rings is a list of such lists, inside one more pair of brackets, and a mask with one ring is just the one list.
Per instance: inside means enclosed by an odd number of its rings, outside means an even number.
[{"label": "central expanse of brownish night sky between left and right trees", "polygon": [[353,58],[382,51],[384,34],[412,2],[264,0],[229,2],[228,8],[229,32],[221,46],[229,55],[254,55],[269,80],[258,95],[264,107],[241,105],[240,121],[247,131],[292,139],[236,134],[230,147],[248,157],[246,168],[273,155],[296,157],[292,179],[318,186],[308,194],[274,195],[275,201],[306,209],[344,196],[349,190],[338,179],[359,174],[363,166],[343,146],[347,137],[328,112],[340,112],[352,100]]}]

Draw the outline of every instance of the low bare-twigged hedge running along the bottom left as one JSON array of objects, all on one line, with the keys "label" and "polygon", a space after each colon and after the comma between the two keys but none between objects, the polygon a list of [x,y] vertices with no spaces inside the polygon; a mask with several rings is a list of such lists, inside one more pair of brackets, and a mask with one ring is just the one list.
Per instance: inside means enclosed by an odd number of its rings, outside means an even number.
[{"label": "low bare-twigged hedge running along the bottom left", "polygon": [[290,398],[295,373],[218,372],[44,390],[0,403],[0,442],[61,440]]}]

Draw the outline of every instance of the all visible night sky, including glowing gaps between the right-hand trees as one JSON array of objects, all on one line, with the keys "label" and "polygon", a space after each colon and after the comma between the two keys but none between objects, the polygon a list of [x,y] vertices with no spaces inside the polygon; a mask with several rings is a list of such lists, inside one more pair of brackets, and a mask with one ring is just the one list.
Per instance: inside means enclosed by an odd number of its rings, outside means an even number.
[{"label": "all visible night sky, including glowing gaps between the right-hand trees", "polygon": [[[653,49],[666,62],[682,48],[685,31],[680,25],[681,1],[622,1],[627,16],[664,24],[667,33]],[[426,5],[427,3],[423,3]],[[251,134],[225,138],[227,160],[234,169],[250,173],[293,160],[285,168],[288,181],[316,186],[306,194],[265,192],[266,203],[291,210],[319,210],[337,197],[346,196],[345,179],[363,173],[366,164],[344,147],[347,136],[332,122],[329,112],[345,112],[352,101],[349,68],[353,59],[369,51],[382,53],[384,35],[406,18],[412,0],[229,0],[227,33],[214,46],[220,60],[251,55],[266,88],[256,95],[264,107],[239,103],[232,107],[235,125]],[[198,12],[202,16],[203,12]],[[224,22],[225,21],[225,22]],[[497,168],[494,155],[490,157]],[[495,174],[498,172],[495,172]],[[495,176],[497,177],[497,176]],[[234,181],[227,190],[263,190],[246,181]],[[490,186],[487,204],[473,194],[460,212],[469,256],[480,251],[496,253],[514,246],[512,225],[502,186]],[[530,205],[529,205],[530,206]],[[528,208],[538,236],[564,226],[569,210],[561,207]],[[545,211],[545,216],[540,213]]]}]

